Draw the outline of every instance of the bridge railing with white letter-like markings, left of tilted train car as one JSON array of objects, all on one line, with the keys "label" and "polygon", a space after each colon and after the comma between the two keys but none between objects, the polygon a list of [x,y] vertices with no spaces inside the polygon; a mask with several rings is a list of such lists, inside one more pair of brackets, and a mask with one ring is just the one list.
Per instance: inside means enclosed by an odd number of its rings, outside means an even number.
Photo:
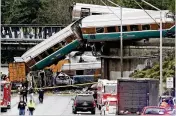
[{"label": "bridge railing with white letter-like markings, left of tilted train car", "polygon": [[2,39],[46,39],[66,25],[2,24]]}]

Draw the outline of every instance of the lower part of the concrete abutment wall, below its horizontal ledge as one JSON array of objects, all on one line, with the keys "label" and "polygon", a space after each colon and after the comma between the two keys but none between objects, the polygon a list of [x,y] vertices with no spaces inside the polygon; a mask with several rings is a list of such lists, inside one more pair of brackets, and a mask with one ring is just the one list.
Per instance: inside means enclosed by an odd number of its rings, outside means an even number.
[{"label": "lower part of the concrete abutment wall, below its horizontal ledge", "polygon": [[[120,58],[102,57],[102,77],[104,79],[115,80],[121,78]],[[150,65],[149,58],[126,58],[123,59],[123,77],[129,77],[132,72],[137,69],[146,67],[146,63]]]}]

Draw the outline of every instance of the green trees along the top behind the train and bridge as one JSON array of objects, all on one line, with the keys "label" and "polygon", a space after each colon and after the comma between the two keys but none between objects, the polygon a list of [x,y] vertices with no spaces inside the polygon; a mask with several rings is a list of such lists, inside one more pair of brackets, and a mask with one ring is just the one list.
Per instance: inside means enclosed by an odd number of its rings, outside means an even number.
[{"label": "green trees along the top behind the train and bridge", "polygon": [[[107,5],[113,6],[107,0]],[[140,8],[137,1],[145,9],[152,7],[141,0],[112,0],[129,8]],[[146,0],[160,9],[175,11],[175,0]],[[71,23],[70,6],[74,3],[103,5],[101,0],[2,0],[1,24],[69,24]],[[175,12],[174,12],[175,13]]]}]

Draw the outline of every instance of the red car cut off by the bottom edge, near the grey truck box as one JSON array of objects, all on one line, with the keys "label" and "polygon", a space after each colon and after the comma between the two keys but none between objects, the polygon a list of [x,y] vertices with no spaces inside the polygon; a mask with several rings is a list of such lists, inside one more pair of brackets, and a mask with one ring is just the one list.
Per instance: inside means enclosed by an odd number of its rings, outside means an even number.
[{"label": "red car cut off by the bottom edge, near the grey truck box", "polygon": [[143,108],[141,116],[147,115],[165,115],[169,116],[170,114],[167,112],[165,108],[161,108],[158,106],[146,106]]}]

